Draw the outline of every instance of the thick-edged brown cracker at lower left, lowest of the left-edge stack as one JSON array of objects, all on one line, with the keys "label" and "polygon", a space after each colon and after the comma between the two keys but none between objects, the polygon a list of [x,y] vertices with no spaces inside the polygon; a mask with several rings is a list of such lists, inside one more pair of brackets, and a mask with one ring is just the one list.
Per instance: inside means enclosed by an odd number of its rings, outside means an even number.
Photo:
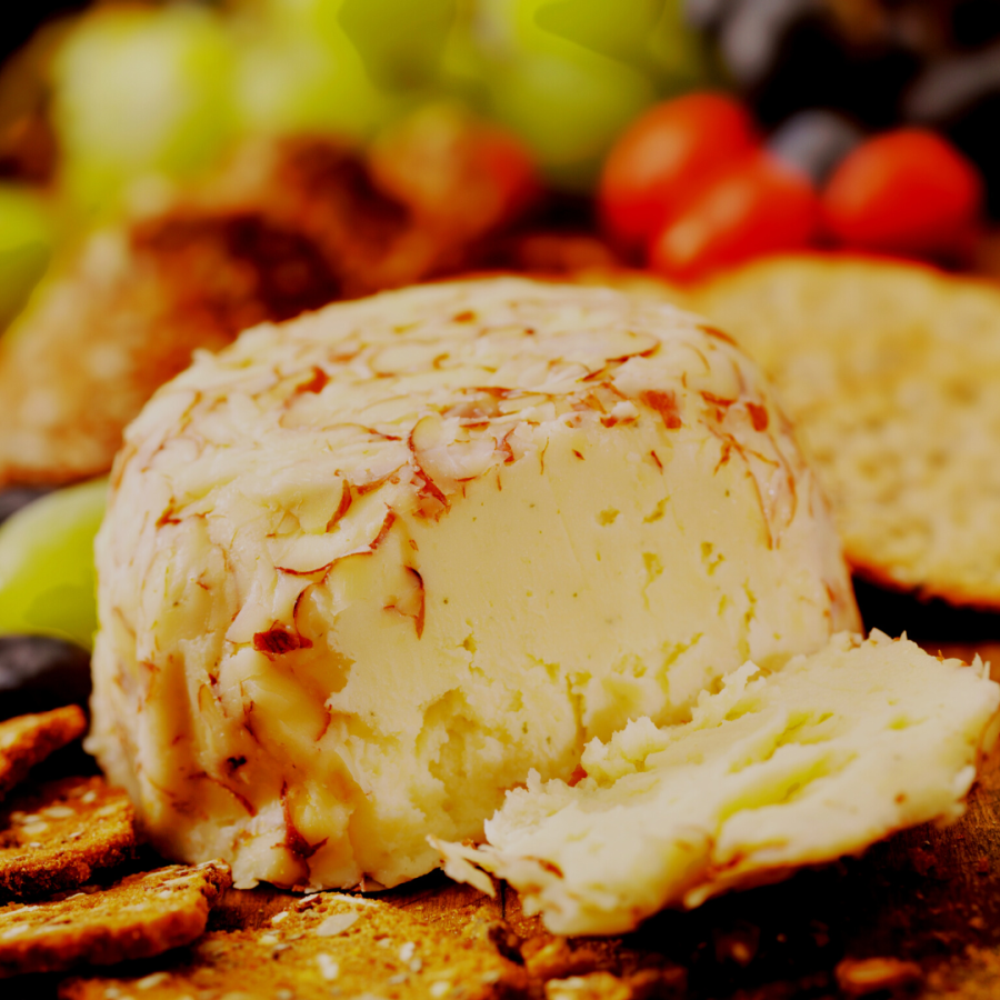
[{"label": "thick-edged brown cracker at lower left, lowest of the left-edge stack", "polygon": [[0,976],[148,958],[198,938],[231,883],[229,866],[172,864],[103,889],[0,909]]}]

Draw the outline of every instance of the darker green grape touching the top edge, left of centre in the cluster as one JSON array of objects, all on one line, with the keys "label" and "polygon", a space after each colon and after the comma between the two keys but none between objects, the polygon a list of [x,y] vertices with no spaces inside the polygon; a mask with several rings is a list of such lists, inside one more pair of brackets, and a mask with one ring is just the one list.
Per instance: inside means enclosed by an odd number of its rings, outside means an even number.
[{"label": "darker green grape touching the top edge, left of centre in the cluster", "polygon": [[457,0],[343,0],[339,22],[380,87],[426,87],[437,76]]}]

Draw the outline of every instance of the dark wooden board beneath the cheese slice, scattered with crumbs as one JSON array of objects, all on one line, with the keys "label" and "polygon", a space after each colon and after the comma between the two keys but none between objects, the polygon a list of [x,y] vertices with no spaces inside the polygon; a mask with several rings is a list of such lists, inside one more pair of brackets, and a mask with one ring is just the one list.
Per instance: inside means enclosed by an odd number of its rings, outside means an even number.
[{"label": "dark wooden board beneath the cheese slice, scattered with crumbs", "polygon": [[[1000,680],[1000,643],[922,644],[962,659],[979,651]],[[483,920],[504,921],[528,956],[539,994],[542,980],[551,977],[596,970],[628,977],[651,967],[660,970],[650,980],[651,993],[647,983],[644,992],[634,991],[634,1000],[819,1000],[861,996],[857,984],[852,990],[851,970],[858,977],[881,968],[909,974],[910,981],[866,996],[998,998],[1000,752],[986,762],[967,814],[952,827],[906,831],[863,858],[711,900],[691,912],[660,913],[624,938],[557,941],[537,918],[524,917],[514,892],[501,889],[491,900],[440,873],[381,896],[442,933],[463,933]],[[230,890],[212,922],[256,927],[289,899],[266,887]],[[878,959],[889,961],[879,967],[873,964]],[[56,977],[0,981],[0,998],[47,1000],[56,996],[57,983]]]}]

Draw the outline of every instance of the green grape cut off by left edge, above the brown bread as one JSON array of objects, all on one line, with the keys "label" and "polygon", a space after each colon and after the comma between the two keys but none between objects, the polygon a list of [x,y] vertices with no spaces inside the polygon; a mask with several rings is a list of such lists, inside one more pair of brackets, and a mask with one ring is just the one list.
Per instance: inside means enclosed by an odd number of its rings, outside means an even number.
[{"label": "green grape cut off by left edge, above the brown bread", "polygon": [[53,242],[42,199],[28,188],[0,184],[0,330],[20,312],[46,270]]}]

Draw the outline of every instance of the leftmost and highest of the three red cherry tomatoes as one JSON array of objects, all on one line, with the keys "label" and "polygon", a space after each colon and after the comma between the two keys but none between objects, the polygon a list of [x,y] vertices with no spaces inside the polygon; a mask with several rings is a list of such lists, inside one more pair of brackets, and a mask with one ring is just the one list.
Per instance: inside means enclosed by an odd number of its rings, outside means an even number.
[{"label": "leftmost and highest of the three red cherry tomatoes", "polygon": [[623,249],[641,249],[692,188],[758,141],[747,109],[720,93],[690,93],[651,108],[604,163],[598,198],[609,236]]}]

